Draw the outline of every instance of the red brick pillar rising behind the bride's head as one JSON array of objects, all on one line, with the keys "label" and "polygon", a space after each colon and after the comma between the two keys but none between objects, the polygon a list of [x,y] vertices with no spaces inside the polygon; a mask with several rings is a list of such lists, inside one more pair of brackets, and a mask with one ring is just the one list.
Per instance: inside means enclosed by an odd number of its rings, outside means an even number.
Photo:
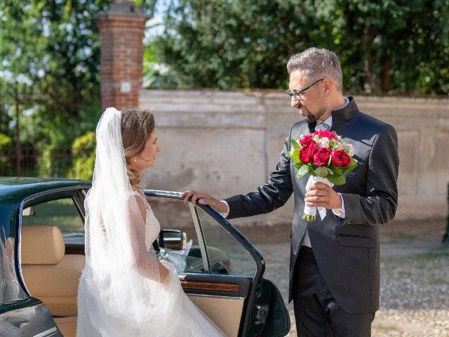
[{"label": "red brick pillar rising behind the bride's head", "polygon": [[145,15],[130,1],[112,1],[98,15],[101,32],[101,105],[137,107],[142,86]]}]

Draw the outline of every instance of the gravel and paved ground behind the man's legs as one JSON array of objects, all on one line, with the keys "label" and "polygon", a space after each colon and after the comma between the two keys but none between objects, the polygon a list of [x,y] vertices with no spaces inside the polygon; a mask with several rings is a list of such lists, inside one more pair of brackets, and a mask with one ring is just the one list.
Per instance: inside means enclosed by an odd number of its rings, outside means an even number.
[{"label": "gravel and paved ground behind the man's legs", "polygon": [[[264,256],[265,276],[287,298],[289,225],[241,230]],[[449,248],[441,244],[444,232],[443,219],[381,227],[381,299],[373,337],[449,337]],[[293,305],[287,308],[292,322],[288,336],[296,337]]]}]

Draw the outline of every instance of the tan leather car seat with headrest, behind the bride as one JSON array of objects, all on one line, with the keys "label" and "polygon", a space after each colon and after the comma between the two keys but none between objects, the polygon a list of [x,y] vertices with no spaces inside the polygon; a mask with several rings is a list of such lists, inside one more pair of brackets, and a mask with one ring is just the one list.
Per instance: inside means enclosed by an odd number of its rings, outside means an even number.
[{"label": "tan leather car seat with headrest, behind the bride", "polygon": [[85,264],[83,255],[65,255],[55,226],[23,226],[22,275],[33,297],[46,304],[65,337],[76,335],[76,294]]}]

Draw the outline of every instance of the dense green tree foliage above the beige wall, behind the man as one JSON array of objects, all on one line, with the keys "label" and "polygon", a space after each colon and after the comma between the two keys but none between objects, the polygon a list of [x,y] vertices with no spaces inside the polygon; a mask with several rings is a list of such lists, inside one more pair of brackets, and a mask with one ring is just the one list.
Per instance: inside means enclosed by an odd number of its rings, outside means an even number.
[{"label": "dense green tree foliage above the beige wall, behind the man", "polygon": [[290,55],[340,55],[354,93],[449,93],[449,0],[170,0],[149,43],[178,86],[284,88]]}]

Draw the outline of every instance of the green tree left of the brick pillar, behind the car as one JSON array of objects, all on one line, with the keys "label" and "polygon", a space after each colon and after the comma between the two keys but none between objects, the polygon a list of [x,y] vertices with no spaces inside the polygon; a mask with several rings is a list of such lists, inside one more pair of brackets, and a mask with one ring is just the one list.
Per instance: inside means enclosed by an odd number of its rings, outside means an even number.
[{"label": "green tree left of the brick pillar, behind the car", "polygon": [[69,148],[83,127],[93,128],[82,122],[88,113],[87,121],[100,114],[95,15],[109,2],[7,0],[0,6],[0,117],[23,132],[2,131],[47,154],[42,175],[65,174],[69,161],[55,165],[53,154]]}]

